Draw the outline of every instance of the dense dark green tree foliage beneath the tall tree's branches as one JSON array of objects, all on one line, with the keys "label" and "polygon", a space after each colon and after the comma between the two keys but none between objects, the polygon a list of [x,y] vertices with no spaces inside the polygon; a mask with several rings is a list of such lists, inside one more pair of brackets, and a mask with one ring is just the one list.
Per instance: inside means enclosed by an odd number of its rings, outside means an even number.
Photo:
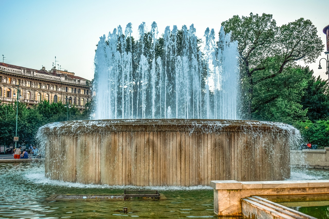
[{"label": "dense dark green tree foliage beneath the tall tree's branches", "polygon": [[259,78],[266,77],[280,68],[275,59],[272,61],[272,68],[267,67],[253,75],[257,83],[253,88],[252,117],[289,124],[306,120],[307,109],[303,109],[300,102],[307,87],[309,71],[298,66],[286,68],[283,74],[258,82]]}]

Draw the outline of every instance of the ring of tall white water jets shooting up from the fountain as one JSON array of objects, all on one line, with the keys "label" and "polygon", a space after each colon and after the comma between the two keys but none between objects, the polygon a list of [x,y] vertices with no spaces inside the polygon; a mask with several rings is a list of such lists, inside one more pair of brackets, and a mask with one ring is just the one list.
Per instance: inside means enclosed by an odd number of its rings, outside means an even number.
[{"label": "ring of tall white water jets shooting up from the fountain", "polygon": [[[193,24],[167,26],[158,37],[155,22],[139,38],[129,23],[100,37],[95,54],[94,119],[238,119],[237,42],[223,28],[205,31],[204,44]],[[202,48],[202,51],[201,51]]]}]

